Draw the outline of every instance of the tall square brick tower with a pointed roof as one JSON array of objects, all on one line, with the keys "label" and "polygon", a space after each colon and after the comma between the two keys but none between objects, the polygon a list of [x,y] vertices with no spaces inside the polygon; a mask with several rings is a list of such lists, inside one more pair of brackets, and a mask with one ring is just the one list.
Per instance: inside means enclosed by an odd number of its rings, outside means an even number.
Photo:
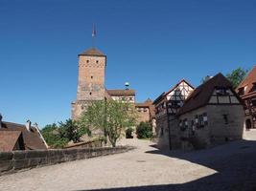
[{"label": "tall square brick tower with a pointed roof", "polygon": [[106,55],[96,48],[79,54],[77,100],[72,102],[72,118],[77,119],[87,104],[105,98]]}]

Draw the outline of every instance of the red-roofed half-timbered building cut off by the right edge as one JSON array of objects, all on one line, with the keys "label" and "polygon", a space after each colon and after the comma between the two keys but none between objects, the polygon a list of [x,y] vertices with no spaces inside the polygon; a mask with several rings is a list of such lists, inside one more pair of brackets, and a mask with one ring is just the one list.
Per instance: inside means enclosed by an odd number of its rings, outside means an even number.
[{"label": "red-roofed half-timbered building cut off by the right edge", "polygon": [[256,128],[256,66],[247,74],[237,88],[245,105],[245,127]]}]

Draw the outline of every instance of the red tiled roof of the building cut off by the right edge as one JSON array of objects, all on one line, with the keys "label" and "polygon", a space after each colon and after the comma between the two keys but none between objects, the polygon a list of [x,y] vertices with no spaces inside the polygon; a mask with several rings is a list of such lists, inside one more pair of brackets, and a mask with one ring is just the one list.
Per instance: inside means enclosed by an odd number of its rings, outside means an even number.
[{"label": "red tiled roof of the building cut off by the right edge", "polygon": [[253,69],[247,74],[247,76],[244,78],[244,80],[238,86],[236,91],[238,92],[239,89],[244,88],[245,86],[247,86],[245,91],[244,91],[243,96],[248,96],[248,94],[252,93],[252,88],[253,88],[253,85],[255,83],[256,83],[256,66],[254,66]]}]

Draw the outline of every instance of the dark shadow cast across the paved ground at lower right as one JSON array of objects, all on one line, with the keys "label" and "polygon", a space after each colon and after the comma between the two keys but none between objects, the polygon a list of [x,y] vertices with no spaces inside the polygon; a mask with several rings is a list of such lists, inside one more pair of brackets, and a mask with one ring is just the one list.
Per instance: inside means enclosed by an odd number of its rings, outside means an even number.
[{"label": "dark shadow cast across the paved ground at lower right", "polygon": [[[155,145],[151,146],[155,147]],[[256,191],[256,141],[234,141],[212,149],[193,152],[170,152],[153,149],[147,153],[188,160],[214,169],[218,173],[182,184],[145,185],[95,190]],[[180,170],[182,171],[182,169]],[[172,178],[170,177],[170,179]]]}]

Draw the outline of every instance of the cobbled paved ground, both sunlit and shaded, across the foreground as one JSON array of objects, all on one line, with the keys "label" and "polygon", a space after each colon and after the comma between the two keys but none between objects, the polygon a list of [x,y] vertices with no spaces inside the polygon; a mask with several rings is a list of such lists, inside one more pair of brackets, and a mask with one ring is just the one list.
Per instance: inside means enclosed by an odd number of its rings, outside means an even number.
[{"label": "cobbled paved ground, both sunlit and shaded, across the foreground", "polygon": [[256,141],[195,152],[159,152],[149,140],[137,149],[0,177],[0,190],[256,190]]}]

